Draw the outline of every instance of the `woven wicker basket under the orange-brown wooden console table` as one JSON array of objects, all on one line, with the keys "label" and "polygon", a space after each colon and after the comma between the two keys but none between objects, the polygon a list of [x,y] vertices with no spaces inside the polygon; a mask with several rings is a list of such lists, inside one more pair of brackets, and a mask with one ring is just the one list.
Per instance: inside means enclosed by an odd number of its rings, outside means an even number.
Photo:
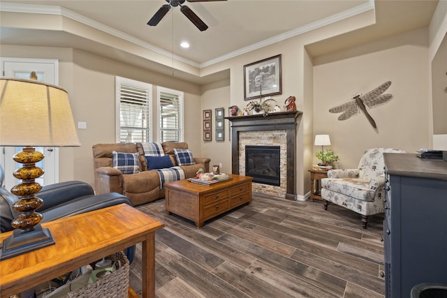
[{"label": "woven wicker basket under the orange-brown wooden console table", "polygon": [[91,298],[91,297],[108,297],[108,298],[124,298],[129,297],[129,260],[122,251],[118,251],[110,255],[112,261],[121,261],[121,267],[99,279],[95,283],[69,292],[64,298]]}]

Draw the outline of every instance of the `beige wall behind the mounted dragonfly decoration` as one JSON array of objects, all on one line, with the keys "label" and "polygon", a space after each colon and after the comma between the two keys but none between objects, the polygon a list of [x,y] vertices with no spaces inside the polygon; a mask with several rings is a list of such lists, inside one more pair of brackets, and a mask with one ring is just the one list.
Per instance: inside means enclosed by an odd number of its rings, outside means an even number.
[{"label": "beige wall behind the mounted dragonfly decoration", "polygon": [[[330,135],[340,156],[337,167],[356,167],[363,151],[372,147],[408,152],[427,147],[427,42],[427,29],[420,29],[335,53],[336,59],[316,59],[325,62],[314,67],[314,133]],[[376,130],[362,112],[346,121],[328,112],[388,80],[392,84],[386,93],[393,98],[369,110]]]}]

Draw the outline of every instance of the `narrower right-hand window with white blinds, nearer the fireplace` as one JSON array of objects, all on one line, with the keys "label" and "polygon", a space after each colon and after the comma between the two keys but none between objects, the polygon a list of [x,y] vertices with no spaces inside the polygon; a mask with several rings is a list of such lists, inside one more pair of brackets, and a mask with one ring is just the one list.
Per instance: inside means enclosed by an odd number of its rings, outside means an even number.
[{"label": "narrower right-hand window with white blinds, nearer the fireplace", "polygon": [[157,88],[159,97],[159,141],[183,141],[183,92]]}]

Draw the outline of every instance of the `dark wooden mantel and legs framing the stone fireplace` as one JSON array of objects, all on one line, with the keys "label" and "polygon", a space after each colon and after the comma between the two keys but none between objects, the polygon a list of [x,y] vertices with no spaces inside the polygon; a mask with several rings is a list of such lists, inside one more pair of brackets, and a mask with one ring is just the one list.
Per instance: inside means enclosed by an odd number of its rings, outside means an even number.
[{"label": "dark wooden mantel and legs framing the stone fireplace", "polygon": [[275,112],[225,117],[231,122],[231,172],[239,174],[239,133],[241,131],[286,131],[287,191],[286,199],[296,200],[296,124],[302,112]]}]

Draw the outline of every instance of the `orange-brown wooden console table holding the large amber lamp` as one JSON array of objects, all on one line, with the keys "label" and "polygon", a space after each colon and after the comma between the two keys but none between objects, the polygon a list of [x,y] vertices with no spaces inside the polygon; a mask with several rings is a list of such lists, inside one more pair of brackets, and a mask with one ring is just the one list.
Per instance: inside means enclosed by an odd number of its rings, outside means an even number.
[{"label": "orange-brown wooden console table holding the large amber lamp", "polygon": [[[56,244],[0,262],[1,297],[34,288],[142,242],[142,297],[155,297],[155,234],[163,223],[128,204],[43,223]],[[0,241],[11,232],[0,234]]]}]

